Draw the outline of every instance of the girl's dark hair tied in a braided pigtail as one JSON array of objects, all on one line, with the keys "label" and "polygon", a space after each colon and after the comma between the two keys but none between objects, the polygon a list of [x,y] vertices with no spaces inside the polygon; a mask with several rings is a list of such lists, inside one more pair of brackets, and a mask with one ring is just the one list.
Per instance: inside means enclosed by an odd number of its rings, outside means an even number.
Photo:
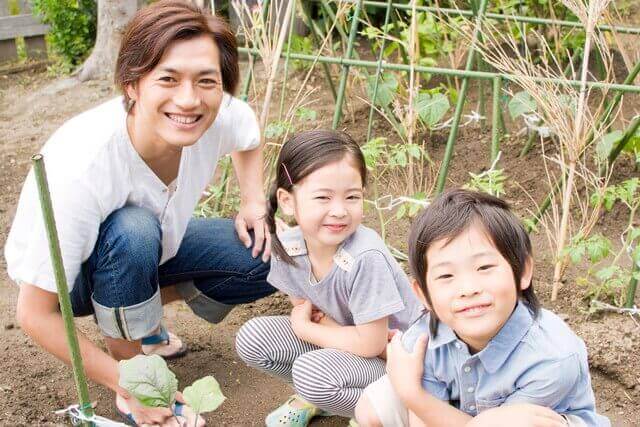
[{"label": "girl's dark hair tied in a braided pigtail", "polygon": [[295,265],[295,262],[284,250],[276,234],[278,188],[292,192],[294,185],[311,173],[347,156],[360,172],[362,185],[365,186],[367,166],[364,155],[358,144],[346,132],[326,129],[300,132],[282,146],[276,162],[275,180],[267,201],[266,222],[271,233],[272,251],[287,264]]}]

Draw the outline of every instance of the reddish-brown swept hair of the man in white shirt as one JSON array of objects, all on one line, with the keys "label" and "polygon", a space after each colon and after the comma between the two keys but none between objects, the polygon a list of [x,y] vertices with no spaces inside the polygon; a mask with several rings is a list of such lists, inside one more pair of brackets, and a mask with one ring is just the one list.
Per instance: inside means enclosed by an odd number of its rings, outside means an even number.
[{"label": "reddish-brown swept hair of the man in white shirt", "polygon": [[209,35],[220,52],[222,88],[235,93],[240,79],[238,45],[227,23],[186,1],[161,0],[140,9],[122,36],[115,83],[129,102],[126,87],[158,65],[171,43]]}]

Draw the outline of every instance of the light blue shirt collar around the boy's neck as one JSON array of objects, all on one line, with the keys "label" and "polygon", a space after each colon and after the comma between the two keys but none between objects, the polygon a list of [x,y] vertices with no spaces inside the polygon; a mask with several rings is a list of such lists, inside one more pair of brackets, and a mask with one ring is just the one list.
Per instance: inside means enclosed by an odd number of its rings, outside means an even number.
[{"label": "light blue shirt collar around the boy's neck", "polygon": [[[487,346],[477,353],[480,362],[489,373],[495,373],[507,361],[507,358],[533,324],[533,316],[527,306],[518,301],[511,316]],[[438,348],[457,341],[453,330],[442,322],[438,322],[438,334],[429,338],[429,348]],[[461,341],[461,340],[460,340]],[[457,347],[457,346],[456,346]],[[458,347],[459,348],[459,347]]]}]

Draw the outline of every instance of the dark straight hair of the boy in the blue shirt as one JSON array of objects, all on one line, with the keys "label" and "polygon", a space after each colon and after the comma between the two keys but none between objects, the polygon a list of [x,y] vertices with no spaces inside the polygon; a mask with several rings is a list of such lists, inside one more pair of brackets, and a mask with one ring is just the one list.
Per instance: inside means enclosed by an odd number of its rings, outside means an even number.
[{"label": "dark straight hair of the boy in the blue shirt", "polygon": [[[511,266],[518,297],[527,303],[536,317],[540,302],[533,284],[525,290],[520,288],[527,260],[531,258],[529,235],[507,202],[486,193],[462,189],[450,190],[436,197],[411,225],[409,267],[429,306],[433,307],[426,281],[427,250],[438,240],[447,239],[447,243],[450,242],[474,222],[483,226],[498,252]],[[438,317],[433,310],[430,319],[429,329],[435,336]]]}]

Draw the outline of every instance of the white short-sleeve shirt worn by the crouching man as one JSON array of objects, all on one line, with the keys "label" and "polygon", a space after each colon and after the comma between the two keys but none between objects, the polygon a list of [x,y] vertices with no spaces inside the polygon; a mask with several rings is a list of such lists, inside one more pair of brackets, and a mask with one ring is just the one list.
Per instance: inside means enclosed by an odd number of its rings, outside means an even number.
[{"label": "white short-sleeve shirt worn by the crouching man", "polygon": [[[160,263],[174,257],[218,160],[260,144],[251,107],[225,94],[211,127],[182,150],[178,177],[167,186],[134,149],[126,117],[122,97],[112,99],[64,123],[41,150],[70,289],[93,251],[100,224],[125,205],[156,215],[162,227]],[[33,170],[20,194],[5,257],[14,281],[56,292]]]}]

